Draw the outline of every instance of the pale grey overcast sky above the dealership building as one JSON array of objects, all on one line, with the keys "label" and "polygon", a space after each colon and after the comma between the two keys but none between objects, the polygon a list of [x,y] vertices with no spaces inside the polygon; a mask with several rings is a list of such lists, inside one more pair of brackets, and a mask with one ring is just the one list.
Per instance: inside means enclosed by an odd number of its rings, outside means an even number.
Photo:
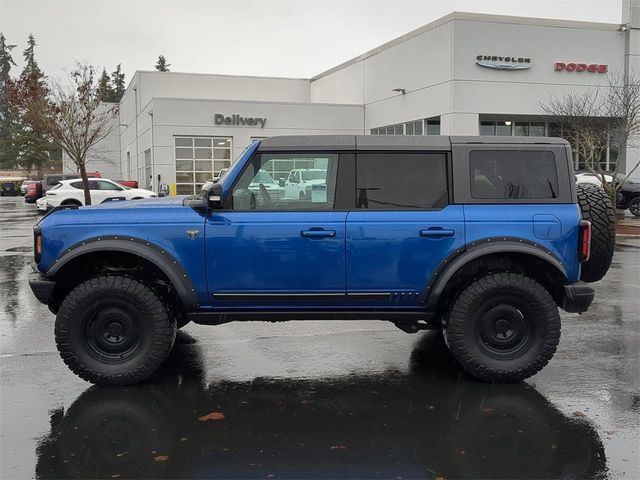
[{"label": "pale grey overcast sky above the dealership building", "polygon": [[122,63],[128,83],[164,54],[172,71],[308,78],[453,11],[620,23],[622,0],[0,0],[0,31],[19,68],[33,33],[53,76]]}]

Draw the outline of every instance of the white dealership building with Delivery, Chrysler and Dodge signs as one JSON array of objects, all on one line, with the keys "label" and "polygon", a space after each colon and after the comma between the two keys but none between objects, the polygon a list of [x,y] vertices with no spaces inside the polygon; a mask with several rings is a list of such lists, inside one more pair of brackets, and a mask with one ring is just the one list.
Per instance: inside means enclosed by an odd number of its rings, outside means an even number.
[{"label": "white dealership building with Delivery, Chrysler and Dodge signs", "polygon": [[[275,135],[549,135],[553,94],[640,69],[640,0],[623,23],[452,13],[310,79],[138,71],[90,170],[193,193]],[[621,170],[640,152],[611,148]]]}]

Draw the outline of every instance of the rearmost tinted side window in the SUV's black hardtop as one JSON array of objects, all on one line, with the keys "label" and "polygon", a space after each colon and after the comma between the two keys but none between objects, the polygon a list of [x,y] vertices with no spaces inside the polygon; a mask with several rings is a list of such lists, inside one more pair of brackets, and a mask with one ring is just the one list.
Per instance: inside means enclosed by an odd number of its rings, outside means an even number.
[{"label": "rearmost tinted side window in the SUV's black hardtop", "polygon": [[469,154],[471,196],[480,199],[548,199],[558,196],[552,152],[477,150]]}]

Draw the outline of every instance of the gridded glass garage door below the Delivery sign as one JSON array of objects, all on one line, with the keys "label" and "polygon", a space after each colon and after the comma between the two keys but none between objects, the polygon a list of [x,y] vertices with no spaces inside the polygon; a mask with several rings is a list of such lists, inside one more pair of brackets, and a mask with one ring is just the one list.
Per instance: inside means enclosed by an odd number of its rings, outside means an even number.
[{"label": "gridded glass garage door below the Delivery sign", "polygon": [[176,193],[193,195],[231,165],[231,137],[174,137]]}]

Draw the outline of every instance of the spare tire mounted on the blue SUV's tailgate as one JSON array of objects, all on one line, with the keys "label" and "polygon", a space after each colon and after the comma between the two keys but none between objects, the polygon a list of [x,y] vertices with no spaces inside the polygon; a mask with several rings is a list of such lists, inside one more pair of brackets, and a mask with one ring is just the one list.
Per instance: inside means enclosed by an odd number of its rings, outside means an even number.
[{"label": "spare tire mounted on the blue SUV's tailgate", "polygon": [[597,282],[611,266],[615,249],[615,210],[607,193],[596,185],[577,185],[582,218],[591,222],[591,255],[582,264],[580,280]]}]

